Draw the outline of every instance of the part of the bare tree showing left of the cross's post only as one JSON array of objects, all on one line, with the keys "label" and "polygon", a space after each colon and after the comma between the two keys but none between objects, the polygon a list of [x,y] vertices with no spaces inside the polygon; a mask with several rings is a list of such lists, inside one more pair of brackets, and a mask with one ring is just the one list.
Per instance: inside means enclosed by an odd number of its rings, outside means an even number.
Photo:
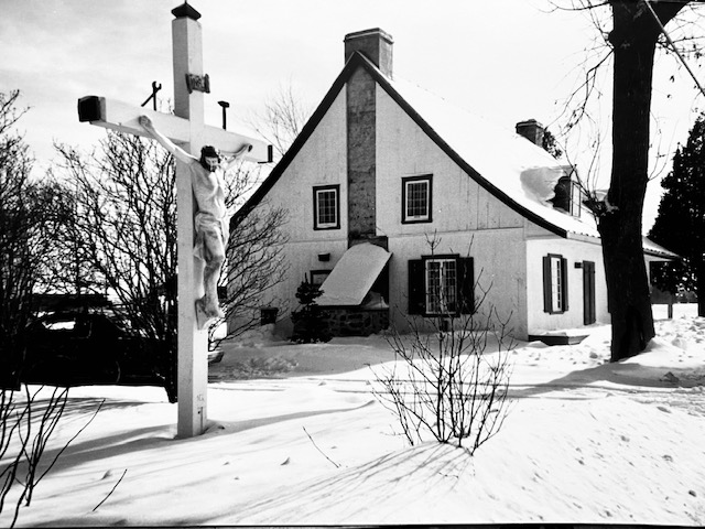
[{"label": "part of the bare tree showing left of the cross's post only", "polygon": [[[161,344],[153,361],[170,400],[175,390],[176,203],[169,153],[139,138],[109,132],[99,150],[83,155],[55,145],[74,198],[63,231],[64,260],[89,290],[109,291],[134,330]],[[79,281],[76,281],[79,284]]]}]

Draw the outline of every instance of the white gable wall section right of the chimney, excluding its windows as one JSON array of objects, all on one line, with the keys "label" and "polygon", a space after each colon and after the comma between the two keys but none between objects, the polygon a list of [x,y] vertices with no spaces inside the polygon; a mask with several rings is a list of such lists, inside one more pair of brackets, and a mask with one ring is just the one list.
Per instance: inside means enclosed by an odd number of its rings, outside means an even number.
[{"label": "white gable wall section right of the chimney, excluding its windows", "polygon": [[[423,130],[377,88],[377,226],[389,238],[390,306],[397,325],[408,312],[408,261],[432,253],[427,236],[441,239],[433,253],[473,257],[476,277],[491,285],[488,304],[512,315],[525,335],[523,226],[519,214],[470,179]],[[402,224],[402,177],[433,175],[432,223]]]}]

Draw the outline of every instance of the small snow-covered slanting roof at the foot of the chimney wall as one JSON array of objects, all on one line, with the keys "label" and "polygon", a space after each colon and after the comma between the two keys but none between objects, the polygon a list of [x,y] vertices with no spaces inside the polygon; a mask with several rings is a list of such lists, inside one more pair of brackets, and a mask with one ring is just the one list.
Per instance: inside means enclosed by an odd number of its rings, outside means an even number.
[{"label": "small snow-covered slanting roof at the foot of the chimney wall", "polygon": [[350,247],[321,285],[318,305],[360,305],[392,255],[362,242]]}]

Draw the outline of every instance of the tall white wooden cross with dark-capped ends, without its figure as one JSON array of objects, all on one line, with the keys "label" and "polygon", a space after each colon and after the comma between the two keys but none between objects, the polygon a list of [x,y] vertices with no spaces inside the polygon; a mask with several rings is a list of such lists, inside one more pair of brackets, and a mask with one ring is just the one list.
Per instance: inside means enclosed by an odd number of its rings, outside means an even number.
[{"label": "tall white wooden cross with dark-capped ends, without its figure", "polygon": [[[178,152],[175,152],[178,212],[177,436],[191,438],[202,434],[205,429],[208,384],[208,333],[204,328],[204,319],[199,322],[198,317],[203,316],[203,310],[197,310],[198,302],[208,296],[204,295],[206,292],[202,280],[204,260],[194,255],[194,244],[200,236],[194,220],[203,212],[198,212],[202,201],[197,196],[195,171],[191,162],[200,155],[196,153],[204,145],[212,145],[225,155],[242,155],[245,160],[253,162],[271,161],[272,149],[249,131],[238,133],[204,123],[204,94],[210,89],[208,75],[203,73],[200,13],[184,3],[172,10],[172,14],[174,115],[105,97],[86,96],[78,100],[78,119],[148,138],[155,138],[154,131],[159,131],[160,143],[180,145],[176,148]],[[225,235],[227,237],[227,231]]]}]

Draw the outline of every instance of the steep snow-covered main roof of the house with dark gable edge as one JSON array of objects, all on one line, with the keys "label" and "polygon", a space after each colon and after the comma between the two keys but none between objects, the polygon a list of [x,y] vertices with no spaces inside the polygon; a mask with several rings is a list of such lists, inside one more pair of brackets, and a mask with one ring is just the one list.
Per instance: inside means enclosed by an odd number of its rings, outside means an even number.
[{"label": "steep snow-covered main roof of the house with dark gable edge", "polygon": [[547,152],[513,131],[498,128],[411,83],[387,77],[357,52],[350,56],[289,151],[236,213],[231,224],[237,224],[272,188],[358,67],[365,68],[452,160],[495,197],[561,237],[568,237],[568,234],[599,237],[590,215],[586,213],[587,218],[572,217],[546,205],[545,196],[536,195],[532,181],[545,179],[555,182],[564,174],[561,164]]}]

